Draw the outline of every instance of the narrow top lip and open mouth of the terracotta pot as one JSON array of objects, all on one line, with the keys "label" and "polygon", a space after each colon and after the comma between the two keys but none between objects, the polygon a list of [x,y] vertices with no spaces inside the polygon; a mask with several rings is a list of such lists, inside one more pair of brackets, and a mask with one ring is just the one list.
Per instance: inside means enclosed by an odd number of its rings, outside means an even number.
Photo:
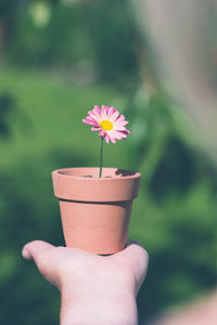
[{"label": "narrow top lip and open mouth of the terracotta pot", "polygon": [[76,174],[68,174],[68,171],[81,171],[81,170],[88,170],[91,174],[91,172],[93,173],[93,171],[99,170],[99,167],[69,167],[69,168],[60,168],[60,169],[55,169],[52,171],[52,174],[58,176],[59,178],[69,178],[69,179],[76,179],[76,180],[82,180],[82,181],[87,181],[87,182],[91,182],[91,181],[99,181],[99,182],[104,182],[104,181],[108,181],[108,182],[113,182],[113,181],[117,181],[117,180],[132,180],[132,179],[138,179],[141,178],[141,173],[137,172],[137,171],[132,171],[129,169],[120,169],[120,168],[112,168],[112,167],[103,167],[102,168],[102,173],[103,171],[110,171],[110,172],[114,172],[115,176],[111,177],[111,176],[102,176],[102,178],[99,177],[85,177],[84,176],[76,176]]}]

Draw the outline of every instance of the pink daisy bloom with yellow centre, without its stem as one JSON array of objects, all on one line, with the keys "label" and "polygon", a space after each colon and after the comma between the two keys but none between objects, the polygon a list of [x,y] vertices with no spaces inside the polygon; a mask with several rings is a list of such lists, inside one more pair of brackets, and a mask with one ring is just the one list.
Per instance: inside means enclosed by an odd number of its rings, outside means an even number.
[{"label": "pink daisy bloom with yellow centre, without its stem", "polygon": [[116,143],[116,140],[126,139],[130,134],[125,128],[128,121],[124,115],[120,115],[114,107],[102,105],[102,108],[94,105],[88,116],[82,119],[84,123],[92,126],[92,131],[100,131],[99,135],[104,136],[106,143]]}]

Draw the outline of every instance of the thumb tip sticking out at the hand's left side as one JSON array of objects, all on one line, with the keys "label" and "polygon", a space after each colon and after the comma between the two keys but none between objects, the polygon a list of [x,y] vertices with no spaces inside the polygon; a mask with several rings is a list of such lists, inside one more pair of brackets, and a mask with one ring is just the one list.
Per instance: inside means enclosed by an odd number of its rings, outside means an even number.
[{"label": "thumb tip sticking out at the hand's left side", "polygon": [[53,245],[48,244],[42,240],[34,240],[28,244],[26,244],[22,250],[22,256],[26,260],[34,259],[34,261],[37,263],[38,257],[41,252],[49,250],[51,248],[54,248]]}]

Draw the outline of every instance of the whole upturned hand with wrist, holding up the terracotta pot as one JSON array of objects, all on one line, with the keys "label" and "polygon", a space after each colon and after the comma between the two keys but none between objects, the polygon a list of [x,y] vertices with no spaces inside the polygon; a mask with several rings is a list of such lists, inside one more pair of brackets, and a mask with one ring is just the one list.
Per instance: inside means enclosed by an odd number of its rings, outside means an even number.
[{"label": "whole upturned hand with wrist, holding up the terracotta pot", "polygon": [[137,324],[136,297],[148,269],[140,245],[105,257],[35,240],[22,253],[60,289],[61,325]]}]

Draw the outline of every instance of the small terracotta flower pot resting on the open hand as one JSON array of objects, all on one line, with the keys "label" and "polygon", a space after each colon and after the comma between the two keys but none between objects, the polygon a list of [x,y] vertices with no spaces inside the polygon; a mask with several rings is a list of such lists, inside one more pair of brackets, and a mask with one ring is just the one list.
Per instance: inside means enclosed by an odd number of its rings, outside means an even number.
[{"label": "small terracotta flower pot resting on the open hand", "polygon": [[120,251],[126,244],[132,199],[141,174],[129,170],[65,168],[52,172],[67,247],[99,255]]}]

